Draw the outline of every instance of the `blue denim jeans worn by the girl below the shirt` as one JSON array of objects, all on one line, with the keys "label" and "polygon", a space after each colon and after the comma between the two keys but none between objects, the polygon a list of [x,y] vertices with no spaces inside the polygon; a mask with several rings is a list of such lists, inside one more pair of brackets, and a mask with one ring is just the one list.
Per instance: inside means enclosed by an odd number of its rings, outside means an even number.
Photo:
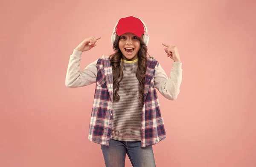
[{"label": "blue denim jeans worn by the girl below the shirt", "polygon": [[110,139],[109,147],[101,145],[106,167],[125,167],[126,153],[133,167],[155,167],[152,146],[140,147],[141,142]]}]

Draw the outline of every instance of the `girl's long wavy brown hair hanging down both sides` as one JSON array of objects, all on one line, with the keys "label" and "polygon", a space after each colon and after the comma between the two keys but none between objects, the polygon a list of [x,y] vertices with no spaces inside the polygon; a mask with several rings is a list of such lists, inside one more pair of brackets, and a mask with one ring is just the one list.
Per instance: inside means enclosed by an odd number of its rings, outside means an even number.
[{"label": "girl's long wavy brown hair hanging down both sides", "polygon": [[[120,96],[118,94],[119,91],[119,82],[122,81],[123,78],[123,65],[124,63],[120,63],[122,61],[123,55],[122,52],[119,49],[119,40],[120,36],[116,36],[116,40],[113,43],[113,50],[115,53],[111,54],[109,59],[112,64],[113,68],[113,88],[115,89],[115,92],[113,93],[113,100],[119,101]],[[144,102],[144,82],[145,82],[145,72],[147,67],[148,58],[150,57],[148,55],[148,48],[143,42],[143,36],[139,38],[140,39],[140,50],[138,51],[138,68],[136,71],[136,77],[139,81],[139,92],[140,92],[140,104],[143,105]],[[122,65],[121,65],[122,64]],[[120,79],[119,79],[120,78]]]}]

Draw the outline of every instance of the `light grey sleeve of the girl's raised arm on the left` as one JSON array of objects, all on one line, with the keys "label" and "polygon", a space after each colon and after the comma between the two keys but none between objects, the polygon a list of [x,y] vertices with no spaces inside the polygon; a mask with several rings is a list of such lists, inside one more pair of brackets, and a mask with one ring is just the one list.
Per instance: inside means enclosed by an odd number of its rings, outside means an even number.
[{"label": "light grey sleeve of the girl's raised arm on the left", "polygon": [[67,67],[66,81],[67,88],[78,88],[87,86],[96,82],[97,76],[97,61],[94,61],[87,65],[83,71],[80,70],[80,60],[82,51],[76,49],[73,50],[73,54],[70,55],[69,64]]}]

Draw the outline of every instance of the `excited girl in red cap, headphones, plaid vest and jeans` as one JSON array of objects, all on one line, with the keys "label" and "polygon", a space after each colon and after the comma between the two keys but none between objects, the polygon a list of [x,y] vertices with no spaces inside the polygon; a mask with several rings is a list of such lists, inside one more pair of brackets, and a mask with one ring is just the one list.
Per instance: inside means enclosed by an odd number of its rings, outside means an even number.
[{"label": "excited girl in red cap, headphones, plaid vest and jeans", "polygon": [[182,80],[177,47],[163,43],[174,60],[168,78],[147,54],[145,23],[124,17],[111,37],[114,53],[79,71],[82,52],[99,39],[87,38],[74,49],[66,76],[68,88],[96,83],[88,138],[101,145],[106,167],[124,167],[126,153],[133,167],[155,167],[152,145],[166,138],[156,89],[167,99],[177,98]]}]

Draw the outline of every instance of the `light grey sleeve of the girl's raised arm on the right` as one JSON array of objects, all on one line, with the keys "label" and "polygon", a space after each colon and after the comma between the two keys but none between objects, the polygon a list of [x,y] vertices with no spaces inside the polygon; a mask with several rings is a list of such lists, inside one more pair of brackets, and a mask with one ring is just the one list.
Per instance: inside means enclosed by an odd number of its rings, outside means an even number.
[{"label": "light grey sleeve of the girl's raised arm on the right", "polygon": [[175,100],[180,93],[180,85],[182,81],[182,63],[173,62],[170,77],[159,64],[155,71],[154,85],[155,88],[169,100]]}]

